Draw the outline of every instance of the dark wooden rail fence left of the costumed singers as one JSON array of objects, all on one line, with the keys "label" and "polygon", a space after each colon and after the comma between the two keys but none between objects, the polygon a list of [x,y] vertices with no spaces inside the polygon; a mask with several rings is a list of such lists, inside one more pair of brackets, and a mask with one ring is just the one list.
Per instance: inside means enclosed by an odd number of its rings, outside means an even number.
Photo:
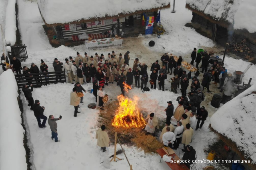
[{"label": "dark wooden rail fence left of the costumed singers", "polygon": [[18,74],[15,75],[18,88],[22,88],[23,84],[33,84],[34,87],[40,87],[42,85],[52,83],[64,83],[66,82],[66,75],[64,71],[56,72],[39,72],[32,74]]}]

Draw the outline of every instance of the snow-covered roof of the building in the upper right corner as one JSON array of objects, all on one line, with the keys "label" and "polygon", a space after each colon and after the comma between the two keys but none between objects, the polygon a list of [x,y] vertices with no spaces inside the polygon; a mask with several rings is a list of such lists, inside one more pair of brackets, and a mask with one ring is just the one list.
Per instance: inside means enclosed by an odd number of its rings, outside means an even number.
[{"label": "snow-covered roof of the building in the upper right corner", "polygon": [[214,20],[232,23],[234,29],[256,32],[255,0],[186,0],[186,4]]}]

